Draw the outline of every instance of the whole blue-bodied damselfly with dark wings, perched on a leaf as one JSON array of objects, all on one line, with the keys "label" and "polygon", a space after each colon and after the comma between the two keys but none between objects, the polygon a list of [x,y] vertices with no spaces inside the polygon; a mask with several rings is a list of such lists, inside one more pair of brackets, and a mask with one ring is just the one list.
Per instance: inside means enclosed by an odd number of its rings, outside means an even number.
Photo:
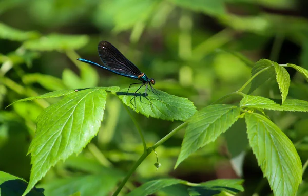
[{"label": "whole blue-bodied damselfly with dark wings, perched on a leaf", "polygon": [[[92,62],[90,60],[86,60],[83,58],[78,58],[77,60],[81,62],[86,62],[93,66],[98,66],[115,74],[119,74],[121,76],[125,76],[131,79],[140,80],[141,82],[132,83],[129,85],[129,88],[133,84],[142,84],[140,88],[145,85],[144,95],[146,96],[146,91],[148,85],[150,85],[152,91],[155,93],[156,90],[152,87],[155,84],[155,80],[153,78],[148,78],[145,73],[141,72],[132,62],[130,62],[125,56],[115,48],[111,43],[107,41],[101,41],[98,46],[99,56],[103,62],[102,64],[98,64]],[[128,88],[128,90],[129,90]],[[138,88],[137,91],[140,89]],[[127,90],[127,92],[128,92]],[[136,91],[136,92],[137,92]],[[135,92],[135,94],[136,94]],[[126,93],[127,94],[127,93]],[[155,93],[158,94],[157,92]],[[158,96],[158,95],[157,95]],[[159,96],[158,96],[159,97]]]}]

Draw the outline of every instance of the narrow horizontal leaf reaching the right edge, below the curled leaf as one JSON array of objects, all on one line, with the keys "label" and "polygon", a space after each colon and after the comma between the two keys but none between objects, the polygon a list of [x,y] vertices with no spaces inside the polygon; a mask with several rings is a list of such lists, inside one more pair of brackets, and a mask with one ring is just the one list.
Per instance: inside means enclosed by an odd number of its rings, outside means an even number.
[{"label": "narrow horizontal leaf reaching the right edge, below the curled leaf", "polygon": [[271,99],[260,96],[252,96],[252,95],[245,95],[240,102],[240,107],[264,109],[264,110],[277,110],[277,111],[308,112],[307,101],[298,99],[286,99],[284,103],[280,105]]}]

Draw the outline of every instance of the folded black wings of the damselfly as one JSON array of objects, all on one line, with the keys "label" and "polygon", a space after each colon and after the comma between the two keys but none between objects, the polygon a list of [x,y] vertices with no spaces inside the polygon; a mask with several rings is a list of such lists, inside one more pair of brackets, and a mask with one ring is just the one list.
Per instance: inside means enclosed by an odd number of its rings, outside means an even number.
[{"label": "folded black wings of the damselfly", "polygon": [[133,79],[138,79],[141,71],[107,41],[101,41],[98,51],[104,66],[110,71]]}]

